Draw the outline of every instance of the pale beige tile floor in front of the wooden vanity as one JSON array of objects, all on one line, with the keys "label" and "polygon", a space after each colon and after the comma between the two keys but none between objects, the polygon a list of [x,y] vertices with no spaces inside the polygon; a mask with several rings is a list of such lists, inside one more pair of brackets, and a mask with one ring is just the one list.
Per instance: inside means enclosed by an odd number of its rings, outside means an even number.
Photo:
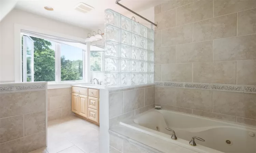
[{"label": "pale beige tile floor in front of the wooden vanity", "polygon": [[70,116],[48,122],[48,146],[30,153],[99,153],[99,126]]}]

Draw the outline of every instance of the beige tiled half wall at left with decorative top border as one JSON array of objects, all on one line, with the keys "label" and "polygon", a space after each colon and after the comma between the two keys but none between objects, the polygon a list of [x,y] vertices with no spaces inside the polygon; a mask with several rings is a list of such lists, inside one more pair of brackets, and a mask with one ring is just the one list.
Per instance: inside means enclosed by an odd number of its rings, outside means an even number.
[{"label": "beige tiled half wall at left with decorative top border", "polygon": [[0,83],[0,150],[28,153],[46,146],[47,83]]}]

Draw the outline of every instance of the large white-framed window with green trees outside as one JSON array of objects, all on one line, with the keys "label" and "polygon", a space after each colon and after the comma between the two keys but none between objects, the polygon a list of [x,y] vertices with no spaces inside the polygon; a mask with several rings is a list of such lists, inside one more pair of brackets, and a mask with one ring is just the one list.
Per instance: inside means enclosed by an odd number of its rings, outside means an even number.
[{"label": "large white-framed window with green trees outside", "polygon": [[23,82],[83,81],[84,51],[67,44],[23,34]]}]

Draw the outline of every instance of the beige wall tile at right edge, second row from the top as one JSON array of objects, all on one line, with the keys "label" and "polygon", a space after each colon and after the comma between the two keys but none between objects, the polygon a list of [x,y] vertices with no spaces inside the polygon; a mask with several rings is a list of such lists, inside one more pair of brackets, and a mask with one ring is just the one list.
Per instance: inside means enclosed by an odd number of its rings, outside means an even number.
[{"label": "beige wall tile at right edge, second row from the top", "polygon": [[[256,5],[256,1],[253,2]],[[248,11],[238,12],[237,17],[237,31],[239,36],[256,33],[256,8]]]}]

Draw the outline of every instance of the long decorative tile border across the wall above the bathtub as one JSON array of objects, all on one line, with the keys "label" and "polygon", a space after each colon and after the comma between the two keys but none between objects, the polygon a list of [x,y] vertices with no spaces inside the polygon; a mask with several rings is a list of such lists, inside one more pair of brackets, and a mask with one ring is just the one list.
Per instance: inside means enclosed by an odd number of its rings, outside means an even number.
[{"label": "long decorative tile border across the wall above the bathtub", "polygon": [[173,88],[187,88],[187,89],[228,91],[228,92],[256,94],[256,86],[245,86],[245,85],[186,83],[186,82],[155,82],[155,85],[173,87]]}]

